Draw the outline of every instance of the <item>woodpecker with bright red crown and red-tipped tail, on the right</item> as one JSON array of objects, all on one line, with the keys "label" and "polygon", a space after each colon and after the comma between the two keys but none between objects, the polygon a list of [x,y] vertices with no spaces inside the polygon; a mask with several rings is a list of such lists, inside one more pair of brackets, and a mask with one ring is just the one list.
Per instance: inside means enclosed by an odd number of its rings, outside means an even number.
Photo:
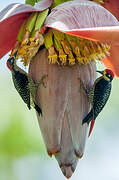
[{"label": "woodpecker with bright red crown and red-tipped tail, on the right", "polygon": [[111,82],[114,78],[113,72],[109,69],[105,69],[104,71],[97,71],[97,72],[102,74],[102,76],[96,79],[93,87],[90,90],[87,90],[83,85],[83,88],[87,93],[89,102],[91,103],[92,106],[90,112],[87,114],[87,116],[83,119],[82,122],[82,124],[84,123],[89,124],[91,122],[89,136],[92,132],[95,119],[104,108],[110,96]]}]

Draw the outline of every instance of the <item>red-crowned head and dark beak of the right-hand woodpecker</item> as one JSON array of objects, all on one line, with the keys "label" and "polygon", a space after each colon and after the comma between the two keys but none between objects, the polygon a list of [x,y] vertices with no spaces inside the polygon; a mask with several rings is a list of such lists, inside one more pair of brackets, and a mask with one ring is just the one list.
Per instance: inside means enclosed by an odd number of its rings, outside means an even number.
[{"label": "red-crowned head and dark beak of the right-hand woodpecker", "polygon": [[114,73],[110,69],[105,69],[104,71],[97,71],[97,72],[102,74],[103,78],[106,81],[110,81],[111,82],[113,80],[113,78],[114,78]]}]

